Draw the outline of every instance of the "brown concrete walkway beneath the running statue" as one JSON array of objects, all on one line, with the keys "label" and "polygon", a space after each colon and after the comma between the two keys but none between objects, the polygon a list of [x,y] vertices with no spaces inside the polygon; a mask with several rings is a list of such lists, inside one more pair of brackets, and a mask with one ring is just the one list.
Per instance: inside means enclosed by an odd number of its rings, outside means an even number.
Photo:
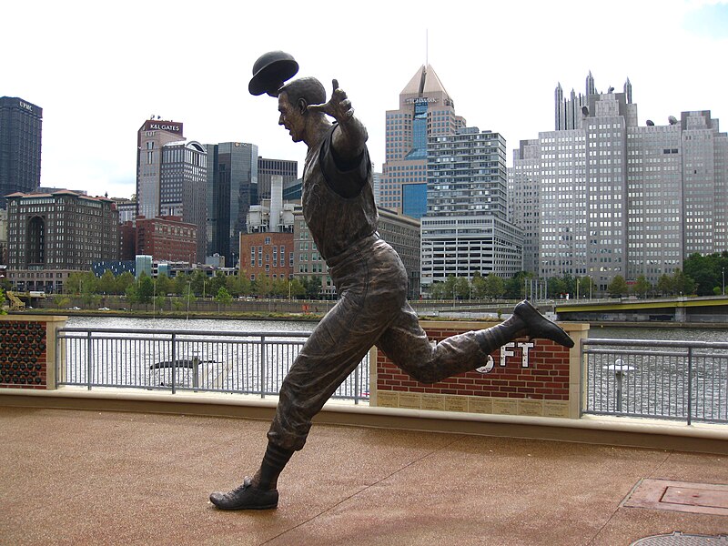
[{"label": "brown concrete walkway beneath the running statue", "polygon": [[217,511],[209,491],[258,467],[267,430],[0,407],[0,544],[627,546],[728,533],[728,515],[624,503],[646,479],[728,484],[722,455],[331,425],[289,463],[278,510]]}]

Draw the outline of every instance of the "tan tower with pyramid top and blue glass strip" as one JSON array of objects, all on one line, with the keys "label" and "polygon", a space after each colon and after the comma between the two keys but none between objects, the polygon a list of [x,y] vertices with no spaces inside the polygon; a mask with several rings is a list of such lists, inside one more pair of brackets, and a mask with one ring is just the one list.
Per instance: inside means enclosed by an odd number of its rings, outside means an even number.
[{"label": "tan tower with pyramid top and blue glass strip", "polygon": [[387,111],[385,163],[379,205],[410,217],[427,212],[428,137],[465,126],[432,66],[421,66],[399,93],[399,109]]}]

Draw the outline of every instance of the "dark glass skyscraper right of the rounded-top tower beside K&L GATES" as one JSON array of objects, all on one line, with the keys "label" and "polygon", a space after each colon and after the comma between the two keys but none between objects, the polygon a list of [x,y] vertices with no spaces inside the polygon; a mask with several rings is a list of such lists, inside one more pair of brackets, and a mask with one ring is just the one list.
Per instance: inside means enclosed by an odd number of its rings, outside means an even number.
[{"label": "dark glass skyscraper right of the rounded-top tower beside K&L GATES", "polygon": [[[269,190],[268,190],[269,191]],[[207,255],[238,262],[251,197],[258,192],[258,147],[245,142],[207,145]]]}]

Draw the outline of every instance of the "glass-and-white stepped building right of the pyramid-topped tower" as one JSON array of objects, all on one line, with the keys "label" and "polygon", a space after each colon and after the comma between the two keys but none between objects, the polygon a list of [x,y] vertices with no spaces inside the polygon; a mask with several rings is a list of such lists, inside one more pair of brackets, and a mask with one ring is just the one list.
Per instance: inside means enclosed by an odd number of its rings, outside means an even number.
[{"label": "glass-and-white stepped building right of the pyramid-topped tower", "polygon": [[505,139],[465,127],[428,139],[427,214],[422,225],[422,288],[448,277],[523,268],[522,234],[508,221]]}]

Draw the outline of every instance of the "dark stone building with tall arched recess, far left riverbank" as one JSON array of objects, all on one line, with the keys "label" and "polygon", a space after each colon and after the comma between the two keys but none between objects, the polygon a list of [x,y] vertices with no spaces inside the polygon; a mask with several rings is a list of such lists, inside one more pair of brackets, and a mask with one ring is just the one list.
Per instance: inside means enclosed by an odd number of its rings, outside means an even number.
[{"label": "dark stone building with tall arched recess, far left riverbank", "polygon": [[15,193],[7,219],[8,277],[17,289],[59,291],[70,272],[118,259],[118,212],[106,197]]}]

